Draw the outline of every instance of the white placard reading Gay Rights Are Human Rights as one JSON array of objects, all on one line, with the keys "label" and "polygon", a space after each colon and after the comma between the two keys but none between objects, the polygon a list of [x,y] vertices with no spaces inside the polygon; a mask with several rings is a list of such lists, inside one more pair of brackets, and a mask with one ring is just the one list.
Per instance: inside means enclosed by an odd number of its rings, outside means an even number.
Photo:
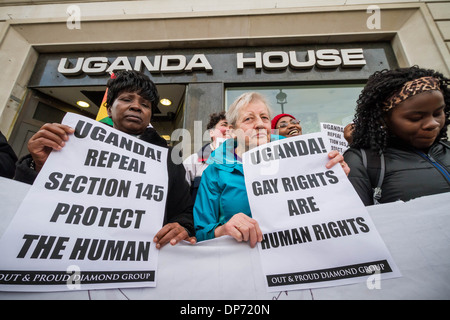
[{"label": "white placard reading Gay Rights Are Human Rights", "polygon": [[326,169],[329,150],[326,136],[314,133],[243,155],[268,291],[400,276],[341,166]]}]

